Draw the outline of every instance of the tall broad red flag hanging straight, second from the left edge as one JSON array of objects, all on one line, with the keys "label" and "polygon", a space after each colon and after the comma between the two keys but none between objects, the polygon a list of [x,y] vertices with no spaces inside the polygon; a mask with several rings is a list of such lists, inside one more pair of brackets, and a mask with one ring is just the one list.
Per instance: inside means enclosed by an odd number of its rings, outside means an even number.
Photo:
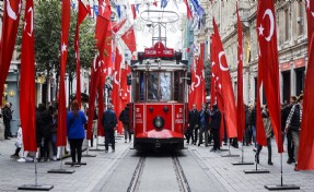
[{"label": "tall broad red flag hanging straight, second from the left edge", "polygon": [[33,0],[26,0],[21,55],[20,117],[23,128],[23,146],[24,151],[37,152]]}]

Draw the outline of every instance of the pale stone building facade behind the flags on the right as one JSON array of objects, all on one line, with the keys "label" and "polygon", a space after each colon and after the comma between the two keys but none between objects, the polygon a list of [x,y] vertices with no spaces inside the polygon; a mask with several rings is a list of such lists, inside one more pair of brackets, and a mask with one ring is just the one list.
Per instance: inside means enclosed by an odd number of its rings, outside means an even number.
[{"label": "pale stone building facade behind the flags on the right", "polygon": [[[228,63],[230,65],[234,93],[236,96],[237,76],[237,28],[236,1],[213,1],[209,14],[219,26]],[[281,103],[290,96],[300,95],[304,88],[305,67],[307,63],[306,13],[304,1],[278,1],[275,3],[276,26],[280,69]],[[258,47],[256,35],[256,1],[240,1],[240,17],[243,27],[243,79],[244,103],[253,104],[256,98]],[[212,33],[212,16],[209,28]],[[265,99],[263,99],[265,103]]]}]

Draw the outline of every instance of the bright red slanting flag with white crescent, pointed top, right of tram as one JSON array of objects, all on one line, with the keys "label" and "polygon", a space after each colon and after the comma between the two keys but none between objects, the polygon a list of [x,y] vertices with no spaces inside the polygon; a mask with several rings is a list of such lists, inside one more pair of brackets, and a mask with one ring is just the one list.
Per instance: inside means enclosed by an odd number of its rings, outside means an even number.
[{"label": "bright red slanting flag with white crescent, pointed top, right of tram", "polygon": [[226,125],[226,135],[228,137],[236,137],[237,136],[237,130],[236,130],[236,109],[235,109],[235,100],[234,100],[234,94],[232,89],[232,82],[230,76],[229,67],[226,63],[226,58],[224,55],[224,50],[222,47],[222,43],[220,39],[220,35],[218,32],[217,24],[213,19],[213,31],[216,36],[216,61],[219,64],[218,73],[219,73],[219,83],[218,83],[218,89],[221,89],[222,95],[222,103],[223,108],[220,107],[220,109],[224,113],[224,120]]}]

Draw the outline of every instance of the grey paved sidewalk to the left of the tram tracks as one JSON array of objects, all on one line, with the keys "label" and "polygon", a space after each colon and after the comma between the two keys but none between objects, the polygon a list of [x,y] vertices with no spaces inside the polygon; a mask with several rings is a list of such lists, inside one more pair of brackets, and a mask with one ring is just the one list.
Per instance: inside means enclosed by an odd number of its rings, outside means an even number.
[{"label": "grey paved sidewalk to the left of the tram tracks", "polygon": [[[119,135],[116,140],[116,151],[112,153],[89,152],[95,154],[96,157],[82,157],[82,163],[86,166],[71,167],[65,165],[66,161],[71,161],[70,158],[62,160],[62,167],[67,170],[75,170],[72,175],[47,173],[50,169],[59,169],[61,161],[45,161],[37,163],[38,184],[53,184],[54,192],[81,192],[92,191],[98,181],[114,167],[115,163],[124,153],[128,152],[130,143],[124,143]],[[0,191],[18,191],[18,188],[23,184],[35,184],[35,166],[33,163],[19,163],[10,156],[15,151],[16,139],[0,141]],[[103,144],[104,139],[100,139],[100,144]],[[95,141],[94,141],[95,143]],[[95,148],[95,144],[94,147]],[[104,146],[98,146],[104,149]],[[86,152],[83,152],[83,155]]]}]

